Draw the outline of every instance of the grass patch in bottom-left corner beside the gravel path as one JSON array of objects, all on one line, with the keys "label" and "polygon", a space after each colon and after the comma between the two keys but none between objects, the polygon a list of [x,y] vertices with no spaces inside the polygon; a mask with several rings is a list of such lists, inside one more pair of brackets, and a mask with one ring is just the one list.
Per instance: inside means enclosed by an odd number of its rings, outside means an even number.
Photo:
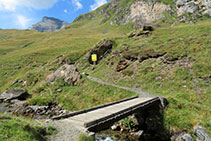
[{"label": "grass patch in bottom-left corner beside the gravel path", "polygon": [[31,120],[20,119],[0,113],[0,140],[7,141],[47,141],[55,131],[44,128]]}]

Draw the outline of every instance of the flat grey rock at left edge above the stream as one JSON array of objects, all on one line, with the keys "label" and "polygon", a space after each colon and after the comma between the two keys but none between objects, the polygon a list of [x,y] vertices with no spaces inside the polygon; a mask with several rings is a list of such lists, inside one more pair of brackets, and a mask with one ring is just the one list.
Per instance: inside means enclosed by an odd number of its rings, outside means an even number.
[{"label": "flat grey rock at left edge above the stream", "polygon": [[0,101],[11,101],[13,99],[26,100],[29,97],[29,94],[19,88],[10,89],[0,95]]}]

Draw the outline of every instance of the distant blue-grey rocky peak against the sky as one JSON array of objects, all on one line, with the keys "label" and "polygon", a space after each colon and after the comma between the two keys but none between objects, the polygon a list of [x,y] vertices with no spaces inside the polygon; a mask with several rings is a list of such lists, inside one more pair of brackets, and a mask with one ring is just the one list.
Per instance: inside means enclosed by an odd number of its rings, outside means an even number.
[{"label": "distant blue-grey rocky peak against the sky", "polygon": [[63,29],[67,25],[67,22],[61,21],[53,17],[45,16],[39,23],[32,25],[31,29],[36,30],[38,32],[49,32]]}]

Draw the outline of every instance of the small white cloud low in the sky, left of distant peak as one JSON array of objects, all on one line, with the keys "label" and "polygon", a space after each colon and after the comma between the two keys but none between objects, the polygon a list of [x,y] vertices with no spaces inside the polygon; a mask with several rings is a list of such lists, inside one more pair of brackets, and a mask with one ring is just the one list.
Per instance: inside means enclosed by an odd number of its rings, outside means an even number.
[{"label": "small white cloud low in the sky, left of distant peak", "polygon": [[22,29],[26,29],[29,27],[30,22],[32,21],[32,19],[27,18],[23,15],[15,15],[16,17],[16,21],[17,21],[17,26],[19,26]]}]

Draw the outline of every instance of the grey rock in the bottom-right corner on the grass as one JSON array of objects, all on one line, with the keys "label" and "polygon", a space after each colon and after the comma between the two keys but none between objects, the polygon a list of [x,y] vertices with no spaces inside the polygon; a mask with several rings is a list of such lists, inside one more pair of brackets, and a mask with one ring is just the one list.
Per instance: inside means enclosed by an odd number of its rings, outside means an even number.
[{"label": "grey rock in the bottom-right corner on the grass", "polygon": [[197,136],[197,141],[211,141],[206,129],[202,126],[194,127],[194,134]]}]

